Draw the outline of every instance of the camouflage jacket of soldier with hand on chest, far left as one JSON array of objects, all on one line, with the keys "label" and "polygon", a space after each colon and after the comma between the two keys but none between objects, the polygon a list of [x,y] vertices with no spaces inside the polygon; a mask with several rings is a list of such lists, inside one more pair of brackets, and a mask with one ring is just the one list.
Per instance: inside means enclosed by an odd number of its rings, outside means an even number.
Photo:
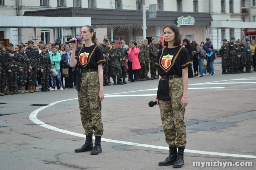
[{"label": "camouflage jacket of soldier with hand on chest, far left", "polygon": [[[14,54],[12,57],[9,53]],[[5,70],[8,71],[10,69],[18,69],[18,62],[20,61],[20,57],[16,51],[7,51],[5,53]]]}]

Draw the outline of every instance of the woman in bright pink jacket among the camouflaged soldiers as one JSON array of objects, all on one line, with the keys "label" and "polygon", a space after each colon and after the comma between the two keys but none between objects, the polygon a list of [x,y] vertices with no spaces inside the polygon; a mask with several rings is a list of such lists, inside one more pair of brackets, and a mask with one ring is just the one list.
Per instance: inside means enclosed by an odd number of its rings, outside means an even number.
[{"label": "woman in bright pink jacket among the camouflaged soldiers", "polygon": [[[129,77],[131,78],[131,82],[136,82],[137,81],[137,70],[140,69],[140,61],[139,61],[139,53],[140,53],[140,48],[137,48],[137,43],[132,42],[131,47],[129,48],[128,54],[129,58],[126,60],[127,62],[127,69],[129,69]],[[134,78],[133,78],[134,74]]]}]

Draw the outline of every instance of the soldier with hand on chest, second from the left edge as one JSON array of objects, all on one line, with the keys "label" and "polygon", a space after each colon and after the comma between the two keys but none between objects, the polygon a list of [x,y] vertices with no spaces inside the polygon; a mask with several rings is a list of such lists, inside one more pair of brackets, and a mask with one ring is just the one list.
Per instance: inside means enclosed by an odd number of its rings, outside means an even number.
[{"label": "soldier with hand on chest, second from the left edge", "polygon": [[8,44],[9,51],[5,53],[5,69],[8,71],[8,80],[9,80],[9,89],[10,94],[19,94],[16,92],[17,87],[17,71],[18,71],[18,62],[20,58],[18,53],[13,51],[13,44]]}]

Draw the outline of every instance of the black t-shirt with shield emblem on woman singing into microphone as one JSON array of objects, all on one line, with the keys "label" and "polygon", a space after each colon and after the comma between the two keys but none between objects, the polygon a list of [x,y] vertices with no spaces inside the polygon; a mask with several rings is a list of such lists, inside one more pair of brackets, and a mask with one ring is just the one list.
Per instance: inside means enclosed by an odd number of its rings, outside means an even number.
[{"label": "black t-shirt with shield emblem on woman singing into microphone", "polygon": [[95,44],[91,47],[80,47],[76,50],[76,60],[80,69],[98,69],[98,65],[106,63],[100,47]]}]

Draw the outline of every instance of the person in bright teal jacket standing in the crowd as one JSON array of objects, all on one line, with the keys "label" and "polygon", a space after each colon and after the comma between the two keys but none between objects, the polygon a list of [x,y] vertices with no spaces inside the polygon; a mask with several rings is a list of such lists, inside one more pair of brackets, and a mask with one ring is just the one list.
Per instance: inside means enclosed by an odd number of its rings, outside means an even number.
[{"label": "person in bright teal jacket standing in the crowd", "polygon": [[[61,60],[61,56],[60,56],[60,53],[58,53],[56,46],[52,46],[52,55],[50,57],[51,57],[51,63],[53,64],[52,68],[55,69],[58,72],[57,79],[58,79],[58,82],[60,84],[60,90],[63,90],[62,83],[61,83],[61,80],[60,80],[60,60]],[[57,90],[56,78],[52,78],[52,80],[53,80],[53,85],[55,87],[54,90]]]}]

